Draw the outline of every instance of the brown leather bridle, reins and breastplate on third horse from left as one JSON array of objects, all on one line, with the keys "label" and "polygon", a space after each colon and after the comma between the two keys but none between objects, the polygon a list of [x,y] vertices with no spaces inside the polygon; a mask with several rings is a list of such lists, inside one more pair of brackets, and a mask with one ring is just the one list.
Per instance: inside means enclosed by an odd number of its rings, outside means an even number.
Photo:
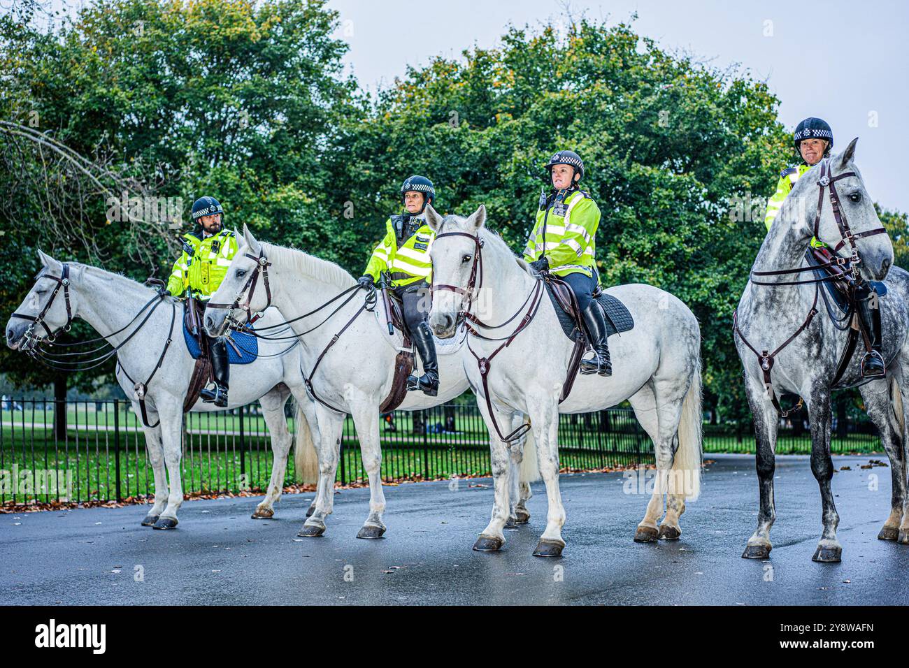
[{"label": "brown leather bridle, reins and breastplate on third horse from left", "polygon": [[[518,334],[521,334],[521,332],[524,331],[524,329],[527,327],[527,325],[530,324],[534,320],[534,317],[540,308],[540,304],[543,301],[541,298],[543,295],[543,290],[544,290],[543,281],[534,282],[535,283],[534,289],[531,291],[530,294],[527,295],[527,298],[524,300],[524,304],[521,304],[521,306],[518,308],[518,310],[514,312],[514,315],[512,315],[510,318],[508,318],[506,321],[504,321],[504,323],[495,324],[495,325],[486,324],[470,312],[471,306],[474,302],[474,293],[483,285],[483,254],[482,254],[483,240],[480,239],[479,234],[468,234],[466,232],[444,232],[442,234],[436,234],[435,239],[438,240],[444,236],[466,236],[467,238],[472,239],[474,241],[474,245],[475,245],[474,264],[473,264],[473,267],[471,268],[470,278],[467,281],[466,288],[461,288],[457,285],[449,285],[449,284],[433,284],[433,286],[431,288],[431,292],[435,293],[436,291],[442,291],[442,292],[453,292],[455,294],[460,294],[461,298],[462,298],[462,303],[461,303],[462,308],[461,308],[461,311],[458,313],[458,315],[464,317],[464,327],[466,328],[468,334],[473,334],[475,337],[477,337],[479,339],[483,339],[484,341],[502,341],[503,342],[503,343],[499,344],[497,348],[495,348],[495,350],[492,352],[492,354],[485,355],[484,357],[480,357],[480,355],[478,355],[474,352],[474,349],[470,347],[469,341],[467,342],[467,350],[469,350],[470,353],[474,355],[474,359],[476,360],[477,367],[479,368],[480,378],[483,381],[483,394],[484,394],[484,397],[486,400],[486,410],[488,411],[489,419],[492,421],[493,426],[495,428],[495,433],[498,434],[499,440],[502,441],[504,444],[511,444],[513,441],[516,441],[517,439],[519,439],[521,436],[523,436],[530,430],[530,423],[522,424],[521,426],[519,426],[517,429],[515,429],[510,434],[502,434],[502,429],[499,427],[498,421],[496,421],[496,419],[495,419],[495,413],[493,410],[493,401],[492,401],[492,397],[489,393],[489,370],[492,367],[492,361],[493,361],[493,358],[495,357],[495,355],[501,353],[505,348],[507,348],[512,343],[512,341],[514,341],[514,338]],[[467,298],[466,308],[464,308],[464,297]],[[511,334],[508,334],[508,335],[502,336],[502,337],[490,337],[490,336],[485,336],[484,334],[480,334],[480,332],[478,331],[478,328],[480,328],[480,327],[482,327],[484,329],[500,329],[500,328],[504,327],[506,324],[511,323],[512,321],[514,321],[514,318],[516,318],[519,314],[521,314],[524,311],[524,306],[528,302],[530,303],[530,306],[527,308],[527,311],[524,314],[524,317],[517,324],[517,326],[514,328],[514,331]],[[477,328],[472,327],[469,323],[473,323],[473,324],[477,325]]]}]

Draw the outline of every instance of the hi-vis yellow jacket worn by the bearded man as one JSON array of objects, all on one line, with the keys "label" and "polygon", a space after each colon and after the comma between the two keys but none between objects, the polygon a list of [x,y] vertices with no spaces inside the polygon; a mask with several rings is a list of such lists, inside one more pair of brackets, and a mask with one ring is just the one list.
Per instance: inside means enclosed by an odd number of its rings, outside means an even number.
[{"label": "hi-vis yellow jacket worn by the bearded man", "polygon": [[221,230],[205,239],[202,235],[201,230],[183,235],[183,253],[167,281],[170,294],[183,296],[188,287],[194,297],[205,300],[224,280],[237,251],[234,233]]}]

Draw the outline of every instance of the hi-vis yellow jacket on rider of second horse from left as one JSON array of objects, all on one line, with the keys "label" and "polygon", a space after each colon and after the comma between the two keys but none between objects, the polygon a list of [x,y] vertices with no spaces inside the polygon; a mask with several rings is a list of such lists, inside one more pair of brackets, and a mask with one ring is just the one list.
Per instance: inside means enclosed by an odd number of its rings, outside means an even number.
[{"label": "hi-vis yellow jacket on rider of second horse from left", "polygon": [[385,221],[385,239],[375,246],[364,274],[371,275],[378,282],[379,274],[388,272],[394,287],[432,281],[433,261],[429,257],[429,249],[435,232],[422,217],[415,216],[411,220],[418,221],[416,232],[400,246],[397,244],[395,224],[405,224],[402,216],[393,215]]}]

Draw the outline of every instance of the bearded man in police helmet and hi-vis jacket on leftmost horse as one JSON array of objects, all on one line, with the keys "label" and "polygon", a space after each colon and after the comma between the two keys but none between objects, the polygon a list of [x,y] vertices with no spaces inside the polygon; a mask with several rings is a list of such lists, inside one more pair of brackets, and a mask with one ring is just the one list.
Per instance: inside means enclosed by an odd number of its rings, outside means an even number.
[{"label": "bearded man in police helmet and hi-vis jacket on leftmost horse", "polygon": [[[224,280],[237,245],[234,234],[224,229],[224,209],[214,197],[200,197],[195,201],[193,221],[199,227],[183,235],[183,253],[174,263],[166,293],[175,297],[192,296],[200,302],[207,302]],[[225,408],[230,377],[227,344],[223,338],[206,335],[205,330],[202,335],[208,345],[215,387],[205,388],[199,396],[206,403]]]}]

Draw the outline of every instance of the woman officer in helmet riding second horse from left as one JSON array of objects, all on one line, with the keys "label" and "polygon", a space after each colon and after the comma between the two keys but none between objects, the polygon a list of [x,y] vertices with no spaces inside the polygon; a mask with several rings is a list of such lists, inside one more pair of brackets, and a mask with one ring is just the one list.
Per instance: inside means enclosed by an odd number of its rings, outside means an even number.
[{"label": "woman officer in helmet riding second horse from left", "polygon": [[429,247],[435,233],[426,224],[425,214],[426,204],[435,200],[435,188],[425,176],[414,175],[401,184],[400,192],[405,211],[385,221],[385,239],[375,246],[359,282],[368,288],[387,274],[388,287],[404,304],[405,324],[423,360],[423,375],[409,376],[407,390],[422,390],[435,396],[439,391],[439,365],[433,334],[426,323],[433,273]]}]

